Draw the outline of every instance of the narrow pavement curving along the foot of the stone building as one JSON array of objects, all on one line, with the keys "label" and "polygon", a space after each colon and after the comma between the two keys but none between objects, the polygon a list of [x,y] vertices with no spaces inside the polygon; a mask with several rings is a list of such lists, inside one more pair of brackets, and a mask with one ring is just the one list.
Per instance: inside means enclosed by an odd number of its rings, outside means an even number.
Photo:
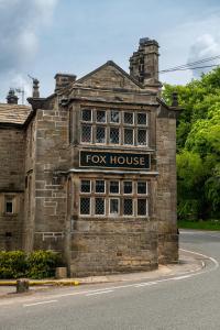
[{"label": "narrow pavement curving along the foot of the stone building", "polygon": [[[168,278],[173,276],[180,276],[189,273],[199,272],[205,267],[205,263],[201,258],[187,252],[186,250],[179,250],[179,262],[176,264],[160,265],[158,270],[151,272],[139,272],[129,274],[116,274],[105,276],[89,276],[80,278],[64,278],[64,279],[40,279],[30,280],[30,292],[28,295],[32,295],[36,292],[52,289],[54,286],[76,286],[76,285],[89,285],[101,283],[124,283],[124,282],[139,282],[139,280],[154,280],[160,278]],[[15,280],[0,280],[0,298],[14,297],[15,295]],[[26,295],[26,294],[25,294]]]}]

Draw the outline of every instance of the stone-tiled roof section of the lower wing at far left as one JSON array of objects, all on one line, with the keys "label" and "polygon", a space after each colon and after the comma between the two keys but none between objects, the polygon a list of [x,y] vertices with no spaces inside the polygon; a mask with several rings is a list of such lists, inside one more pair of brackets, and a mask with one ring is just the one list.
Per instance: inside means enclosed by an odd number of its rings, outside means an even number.
[{"label": "stone-tiled roof section of the lower wing at far left", "polygon": [[31,112],[29,106],[0,103],[0,123],[24,124]]}]

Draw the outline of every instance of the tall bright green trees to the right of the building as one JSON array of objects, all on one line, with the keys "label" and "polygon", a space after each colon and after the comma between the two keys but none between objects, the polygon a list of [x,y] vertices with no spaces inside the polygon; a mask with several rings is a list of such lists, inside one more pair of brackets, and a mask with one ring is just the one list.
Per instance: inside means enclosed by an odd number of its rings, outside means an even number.
[{"label": "tall bright green trees to the right of the building", "polygon": [[178,217],[220,216],[220,68],[186,86],[165,85],[163,98],[178,92]]}]

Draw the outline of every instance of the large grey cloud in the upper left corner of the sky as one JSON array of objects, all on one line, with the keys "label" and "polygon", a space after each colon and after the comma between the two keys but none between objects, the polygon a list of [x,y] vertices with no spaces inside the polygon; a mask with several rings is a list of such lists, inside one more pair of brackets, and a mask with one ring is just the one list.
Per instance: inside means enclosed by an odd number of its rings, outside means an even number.
[{"label": "large grey cloud in the upper left corner of the sky", "polygon": [[38,34],[52,22],[58,0],[0,0],[0,88],[3,79],[13,82],[33,63],[40,46]]}]

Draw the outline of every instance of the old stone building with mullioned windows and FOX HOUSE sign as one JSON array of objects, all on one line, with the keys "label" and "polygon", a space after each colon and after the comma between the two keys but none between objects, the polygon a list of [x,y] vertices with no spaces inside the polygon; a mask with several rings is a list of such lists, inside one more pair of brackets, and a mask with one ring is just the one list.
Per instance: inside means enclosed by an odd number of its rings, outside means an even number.
[{"label": "old stone building with mullioned windows and FOX HOUSE sign", "polygon": [[0,105],[0,250],[61,251],[69,275],[178,260],[176,100],[160,98],[158,44],[140,40],[130,75],[109,61],[57,74],[30,106]]}]

